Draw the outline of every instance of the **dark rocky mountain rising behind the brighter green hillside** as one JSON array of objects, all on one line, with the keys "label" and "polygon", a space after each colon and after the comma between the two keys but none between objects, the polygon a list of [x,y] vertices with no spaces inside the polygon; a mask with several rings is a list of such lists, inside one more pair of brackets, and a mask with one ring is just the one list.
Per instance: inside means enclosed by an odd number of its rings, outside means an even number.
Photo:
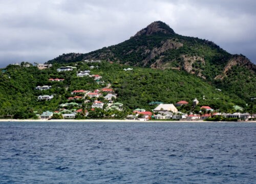
[{"label": "dark rocky mountain rising behind the brighter green hillside", "polygon": [[[250,76],[250,82],[247,81],[246,85],[256,86],[256,67],[245,56],[231,55],[212,41],[176,34],[161,21],[153,22],[129,40],[117,45],[87,54],[61,55],[48,63],[69,63],[85,59],[100,59],[161,70],[184,70],[211,83],[221,80],[222,84],[218,87],[223,88],[228,81],[234,81],[233,78],[247,75]],[[250,95],[256,96],[255,92]]]}]

